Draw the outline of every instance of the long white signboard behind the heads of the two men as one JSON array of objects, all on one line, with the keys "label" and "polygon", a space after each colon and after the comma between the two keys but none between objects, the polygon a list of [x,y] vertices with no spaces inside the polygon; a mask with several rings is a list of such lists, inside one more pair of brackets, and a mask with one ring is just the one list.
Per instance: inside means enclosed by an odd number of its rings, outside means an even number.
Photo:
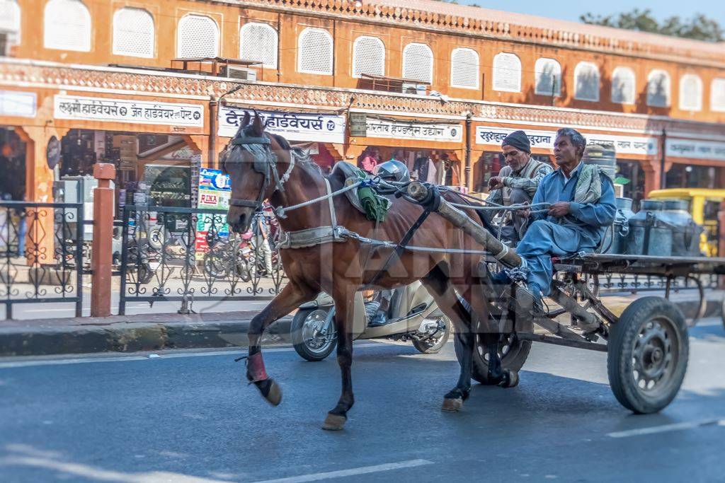
[{"label": "long white signboard behind the heads of the two men", "polygon": [[[501,142],[506,136],[518,129],[510,129],[506,127],[476,127],[476,144],[484,144],[489,146],[501,146]],[[554,140],[556,139],[555,131],[544,131],[526,129],[524,130],[529,137],[531,148],[552,149],[554,148]],[[582,133],[587,138],[587,144],[600,144],[614,148],[617,154],[640,154],[642,156],[651,156],[658,153],[657,138],[647,138],[642,136],[616,136],[608,134],[589,134]]]}]

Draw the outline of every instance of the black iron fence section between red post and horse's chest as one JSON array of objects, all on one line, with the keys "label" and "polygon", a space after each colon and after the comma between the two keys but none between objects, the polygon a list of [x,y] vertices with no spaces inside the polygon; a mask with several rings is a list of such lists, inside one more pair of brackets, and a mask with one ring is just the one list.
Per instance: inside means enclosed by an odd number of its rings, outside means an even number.
[{"label": "black iron fence section between red post and horse's chest", "polygon": [[[275,232],[231,233],[226,212],[125,206],[119,314],[126,303],[271,300],[284,283]],[[116,243],[115,243],[116,244]]]}]

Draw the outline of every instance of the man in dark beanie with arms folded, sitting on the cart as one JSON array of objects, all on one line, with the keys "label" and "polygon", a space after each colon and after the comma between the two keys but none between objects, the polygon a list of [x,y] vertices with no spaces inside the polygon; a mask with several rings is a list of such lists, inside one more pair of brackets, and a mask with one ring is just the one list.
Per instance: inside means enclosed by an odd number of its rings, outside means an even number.
[{"label": "man in dark beanie with arms folded, sitting on the cart", "polygon": [[[515,131],[504,138],[501,150],[506,159],[506,166],[498,176],[489,180],[489,197],[487,201],[503,206],[531,203],[534,193],[539,188],[542,178],[554,171],[546,163],[531,159],[531,143],[529,136],[523,131]],[[505,225],[501,230],[501,238],[514,245],[523,238],[528,218],[516,211],[505,211]]]}]

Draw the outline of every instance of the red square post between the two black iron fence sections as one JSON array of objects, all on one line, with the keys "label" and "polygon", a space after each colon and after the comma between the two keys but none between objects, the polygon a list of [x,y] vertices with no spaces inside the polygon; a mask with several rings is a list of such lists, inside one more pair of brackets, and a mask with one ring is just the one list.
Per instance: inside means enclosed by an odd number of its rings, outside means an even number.
[{"label": "red square post between the two black iron fence sections", "polygon": [[94,190],[93,247],[91,251],[91,317],[111,315],[111,264],[113,238],[113,188],[116,177],[113,164],[98,163],[93,175],[98,180]]}]

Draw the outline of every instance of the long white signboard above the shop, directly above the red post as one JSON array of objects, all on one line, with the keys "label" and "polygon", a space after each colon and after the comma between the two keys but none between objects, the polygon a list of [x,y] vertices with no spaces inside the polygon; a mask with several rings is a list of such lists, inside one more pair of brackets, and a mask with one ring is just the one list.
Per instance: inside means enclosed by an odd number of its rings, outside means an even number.
[{"label": "long white signboard above the shop, directly above the red post", "polygon": [[130,101],[101,97],[54,97],[56,119],[130,122],[170,126],[204,127],[204,107],[196,104]]}]

